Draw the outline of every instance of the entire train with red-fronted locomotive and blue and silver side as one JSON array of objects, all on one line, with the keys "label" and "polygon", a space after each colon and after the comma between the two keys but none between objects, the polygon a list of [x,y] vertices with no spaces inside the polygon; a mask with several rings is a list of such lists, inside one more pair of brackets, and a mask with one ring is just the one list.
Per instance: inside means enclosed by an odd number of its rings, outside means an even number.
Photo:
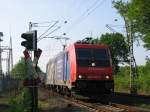
[{"label": "entire train with red-fronted locomotive and blue and silver side", "polygon": [[111,94],[114,88],[112,60],[107,45],[69,45],[50,59],[46,86],[64,94]]}]

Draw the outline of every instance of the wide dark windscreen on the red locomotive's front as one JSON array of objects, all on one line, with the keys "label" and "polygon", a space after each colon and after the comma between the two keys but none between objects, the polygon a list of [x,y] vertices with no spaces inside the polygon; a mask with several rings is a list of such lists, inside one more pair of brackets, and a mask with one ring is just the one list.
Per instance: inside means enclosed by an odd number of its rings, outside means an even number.
[{"label": "wide dark windscreen on the red locomotive's front", "polygon": [[108,49],[77,48],[77,65],[83,67],[110,66]]}]

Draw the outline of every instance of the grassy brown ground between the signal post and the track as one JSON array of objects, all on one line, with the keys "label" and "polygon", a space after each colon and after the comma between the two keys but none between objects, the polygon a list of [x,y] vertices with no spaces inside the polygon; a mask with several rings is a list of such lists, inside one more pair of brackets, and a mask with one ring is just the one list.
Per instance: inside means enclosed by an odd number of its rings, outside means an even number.
[{"label": "grassy brown ground between the signal post and the track", "polygon": [[63,98],[53,95],[46,90],[39,90],[40,112],[89,112],[66,102]]}]

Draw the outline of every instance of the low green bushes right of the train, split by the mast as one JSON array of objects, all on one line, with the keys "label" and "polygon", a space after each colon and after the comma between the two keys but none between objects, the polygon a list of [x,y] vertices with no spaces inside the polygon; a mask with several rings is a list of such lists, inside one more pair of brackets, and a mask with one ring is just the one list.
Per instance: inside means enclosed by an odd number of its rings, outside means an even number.
[{"label": "low green bushes right of the train, split by the mast", "polygon": [[[130,91],[130,72],[129,67],[121,67],[117,75],[114,76],[115,91]],[[135,80],[135,86],[140,94],[150,94],[150,61],[145,66],[138,66],[138,76]]]}]

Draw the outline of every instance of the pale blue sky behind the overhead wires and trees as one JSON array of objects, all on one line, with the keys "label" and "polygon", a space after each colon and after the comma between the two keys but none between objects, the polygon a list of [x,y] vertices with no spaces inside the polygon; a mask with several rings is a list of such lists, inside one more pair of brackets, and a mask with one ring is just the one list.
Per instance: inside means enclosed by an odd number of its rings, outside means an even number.
[{"label": "pale blue sky behind the overhead wires and trees", "polygon": [[[39,37],[49,28],[47,26],[58,21],[49,32],[60,28],[49,37],[60,37],[66,33],[65,37],[69,38],[67,44],[88,36],[97,38],[106,32],[112,33],[106,28],[106,24],[109,24],[115,31],[124,33],[122,27],[113,27],[123,26],[124,22],[113,8],[112,0],[0,0],[0,2],[0,32],[4,34],[1,45],[9,45],[11,35],[14,64],[20,57],[23,57],[24,47],[21,46],[23,41],[21,34],[29,31],[29,22],[38,23],[38,27],[32,29],[38,31]],[[63,40],[51,38],[44,38],[38,42],[38,48],[43,50],[39,59],[39,66],[43,71],[46,70],[48,60],[62,50],[62,43],[64,43]],[[140,47],[137,47],[136,43],[134,46],[138,65],[145,64],[145,57],[150,54],[142,48],[142,45],[141,42]],[[3,68],[5,68],[4,64]]]}]

